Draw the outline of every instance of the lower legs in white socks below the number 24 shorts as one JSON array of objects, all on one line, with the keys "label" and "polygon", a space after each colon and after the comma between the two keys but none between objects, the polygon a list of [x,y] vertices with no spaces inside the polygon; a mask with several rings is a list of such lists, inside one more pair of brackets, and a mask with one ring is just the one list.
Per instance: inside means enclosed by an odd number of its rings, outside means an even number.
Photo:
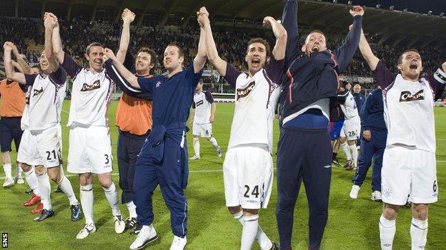
[{"label": "lower legs in white socks below the number 24 shorts", "polygon": [[240,249],[251,249],[257,239],[261,249],[274,249],[272,241],[259,226],[259,209],[242,209],[242,206],[228,207],[229,213],[243,226]]}]

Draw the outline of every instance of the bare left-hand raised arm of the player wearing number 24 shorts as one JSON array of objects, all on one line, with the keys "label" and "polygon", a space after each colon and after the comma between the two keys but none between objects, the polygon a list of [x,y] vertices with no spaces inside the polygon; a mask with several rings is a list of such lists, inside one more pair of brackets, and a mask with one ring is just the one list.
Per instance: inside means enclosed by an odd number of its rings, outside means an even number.
[{"label": "bare left-hand raised arm of the player wearing number 24 shorts", "polygon": [[197,13],[197,15],[199,15],[198,22],[200,26],[204,28],[204,35],[206,36],[204,41],[206,43],[207,58],[209,59],[209,62],[211,62],[212,65],[217,68],[220,75],[224,76],[226,75],[227,62],[220,58],[217,52],[217,46],[215,45],[214,36],[212,36],[211,23],[209,21],[209,14],[206,14],[206,8],[202,7],[200,11],[203,11],[204,13]]}]

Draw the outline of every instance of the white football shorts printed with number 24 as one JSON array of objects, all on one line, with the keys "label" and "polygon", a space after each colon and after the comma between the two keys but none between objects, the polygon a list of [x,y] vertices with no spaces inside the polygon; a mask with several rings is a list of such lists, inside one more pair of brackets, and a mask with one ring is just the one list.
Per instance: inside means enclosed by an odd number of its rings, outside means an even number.
[{"label": "white football shorts printed with number 24", "polygon": [[267,208],[272,189],[272,156],[260,147],[232,147],[223,163],[227,207]]}]

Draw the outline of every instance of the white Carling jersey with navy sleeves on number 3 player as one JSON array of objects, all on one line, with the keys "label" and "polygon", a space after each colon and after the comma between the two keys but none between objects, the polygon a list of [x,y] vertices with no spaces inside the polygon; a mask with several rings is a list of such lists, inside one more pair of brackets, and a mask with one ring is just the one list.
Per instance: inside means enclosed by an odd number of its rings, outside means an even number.
[{"label": "white Carling jersey with navy sleeves on number 3 player", "polygon": [[62,67],[73,79],[67,126],[75,124],[108,126],[108,109],[114,82],[106,71],[91,73],[88,68],[79,66],[66,53]]}]

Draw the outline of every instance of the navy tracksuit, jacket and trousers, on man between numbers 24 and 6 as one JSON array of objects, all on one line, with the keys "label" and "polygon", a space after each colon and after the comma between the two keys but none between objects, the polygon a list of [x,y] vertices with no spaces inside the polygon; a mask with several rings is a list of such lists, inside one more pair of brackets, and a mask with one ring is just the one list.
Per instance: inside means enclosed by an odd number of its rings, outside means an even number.
[{"label": "navy tracksuit, jacket and trousers, on man between numbers 24 and 6", "polygon": [[[277,149],[277,228],[280,249],[291,249],[294,205],[303,180],[309,203],[309,248],[319,249],[328,218],[332,147],[329,119],[312,108],[292,120],[291,115],[316,101],[337,97],[337,73],[347,68],[360,42],[362,16],[353,18],[345,43],[335,51],[301,52],[297,32],[297,1],[284,6],[282,24],[288,33],[280,99],[283,127]],[[319,113],[318,113],[319,112]],[[305,121],[307,123],[305,124]]]}]

